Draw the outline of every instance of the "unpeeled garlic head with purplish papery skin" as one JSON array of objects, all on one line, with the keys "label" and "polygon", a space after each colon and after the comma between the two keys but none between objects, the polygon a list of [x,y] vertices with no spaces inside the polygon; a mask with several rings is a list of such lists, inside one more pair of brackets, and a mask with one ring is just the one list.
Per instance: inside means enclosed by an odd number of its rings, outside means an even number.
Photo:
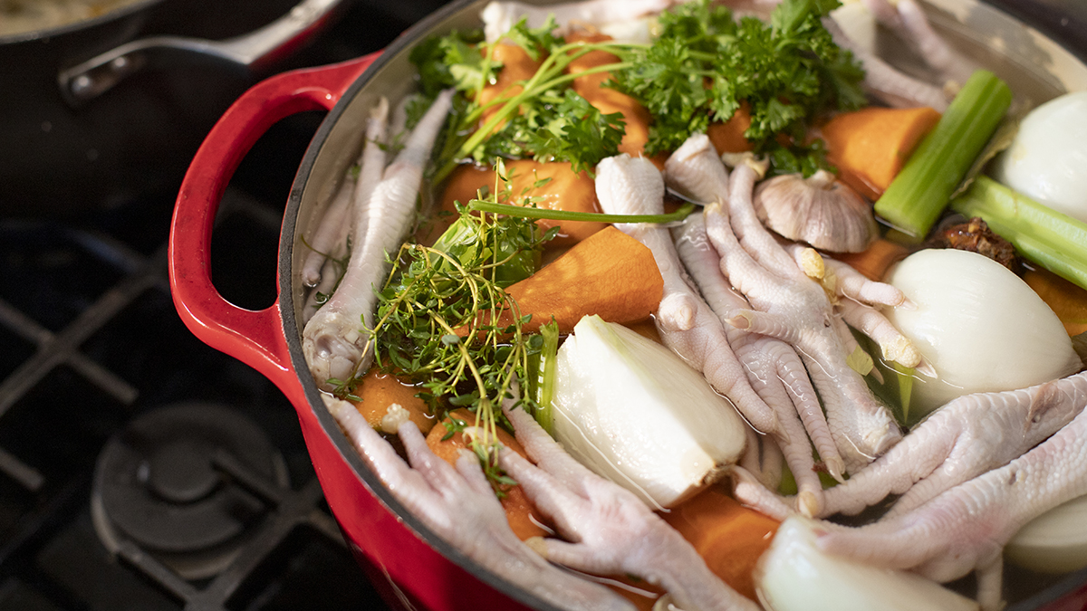
[{"label": "unpeeled garlic head with purplish papery skin", "polygon": [[759,220],[777,234],[830,252],[861,252],[878,236],[872,207],[853,189],[820,170],[775,176],[754,191]]}]

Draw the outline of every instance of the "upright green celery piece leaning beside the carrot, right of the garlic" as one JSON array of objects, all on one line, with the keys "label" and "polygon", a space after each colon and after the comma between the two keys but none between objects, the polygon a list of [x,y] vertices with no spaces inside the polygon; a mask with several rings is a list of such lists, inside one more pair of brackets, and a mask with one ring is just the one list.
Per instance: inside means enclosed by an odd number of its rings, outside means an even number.
[{"label": "upright green celery piece leaning beside the carrot, right of the garlic", "polygon": [[923,239],[1011,101],[1011,89],[1003,80],[985,70],[974,72],[876,201],[876,213],[903,233]]}]

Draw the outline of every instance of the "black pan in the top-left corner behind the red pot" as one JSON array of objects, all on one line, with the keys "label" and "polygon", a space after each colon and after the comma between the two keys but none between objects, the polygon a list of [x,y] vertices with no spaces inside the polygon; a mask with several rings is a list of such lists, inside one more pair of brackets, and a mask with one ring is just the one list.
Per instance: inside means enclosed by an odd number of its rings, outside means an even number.
[{"label": "black pan in the top-left corner behind the red pot", "polygon": [[262,40],[271,50],[252,65],[200,48],[143,50],[123,60],[128,78],[82,98],[62,86],[61,73],[140,37],[239,37],[299,2],[140,0],[70,25],[0,36],[0,214],[73,212],[176,188],[252,73],[297,48],[340,0],[323,0],[327,8],[307,15],[305,27],[278,32],[278,43]]}]

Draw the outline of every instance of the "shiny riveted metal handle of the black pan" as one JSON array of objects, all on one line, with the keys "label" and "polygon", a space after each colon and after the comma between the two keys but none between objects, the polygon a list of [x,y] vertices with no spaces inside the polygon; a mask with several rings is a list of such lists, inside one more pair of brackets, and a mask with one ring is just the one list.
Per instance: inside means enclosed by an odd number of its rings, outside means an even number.
[{"label": "shiny riveted metal handle of the black pan", "polygon": [[79,108],[146,68],[205,63],[259,73],[316,34],[341,2],[303,0],[264,27],[228,40],[182,36],[133,40],[61,71],[57,77],[61,96],[72,108]]}]

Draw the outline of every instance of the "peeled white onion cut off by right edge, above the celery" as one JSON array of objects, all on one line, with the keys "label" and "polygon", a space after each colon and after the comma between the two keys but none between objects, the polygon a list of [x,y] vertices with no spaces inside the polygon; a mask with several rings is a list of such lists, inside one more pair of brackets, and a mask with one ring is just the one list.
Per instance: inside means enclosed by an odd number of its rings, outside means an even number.
[{"label": "peeled white onion cut off by right edge, above the celery", "polygon": [[997,180],[1087,222],[1087,91],[1065,93],[1030,111],[997,159]]}]

